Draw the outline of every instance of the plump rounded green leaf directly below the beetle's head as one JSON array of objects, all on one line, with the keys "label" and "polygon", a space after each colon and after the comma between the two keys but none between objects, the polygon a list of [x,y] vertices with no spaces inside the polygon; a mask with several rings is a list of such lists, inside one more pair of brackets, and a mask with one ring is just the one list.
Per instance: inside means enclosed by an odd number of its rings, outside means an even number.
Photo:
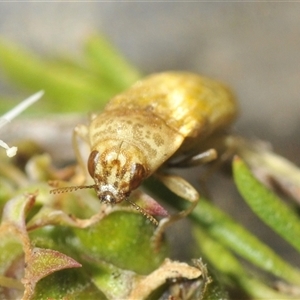
[{"label": "plump rounded green leaf directly below the beetle's head", "polygon": [[156,253],[151,244],[153,224],[137,213],[116,211],[86,229],[74,229],[80,251],[115,266],[147,274],[157,268],[166,249]]}]

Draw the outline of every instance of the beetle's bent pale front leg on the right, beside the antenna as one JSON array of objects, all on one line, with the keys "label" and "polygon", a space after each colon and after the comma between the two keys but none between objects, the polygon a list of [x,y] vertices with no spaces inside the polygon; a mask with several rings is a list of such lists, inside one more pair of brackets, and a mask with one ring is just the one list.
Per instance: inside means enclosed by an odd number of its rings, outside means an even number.
[{"label": "beetle's bent pale front leg on the right, beside the antenna", "polygon": [[177,214],[163,218],[159,222],[152,238],[154,249],[158,250],[162,241],[162,235],[166,228],[172,223],[185,218],[194,210],[199,200],[199,194],[191,184],[189,184],[180,176],[162,173],[157,173],[155,174],[155,176],[173,193],[191,203],[191,205],[187,209]]}]

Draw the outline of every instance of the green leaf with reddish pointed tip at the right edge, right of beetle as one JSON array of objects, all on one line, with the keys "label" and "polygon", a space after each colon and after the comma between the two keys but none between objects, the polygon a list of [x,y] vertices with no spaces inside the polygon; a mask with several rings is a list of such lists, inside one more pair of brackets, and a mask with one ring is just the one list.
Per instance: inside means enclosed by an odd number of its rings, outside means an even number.
[{"label": "green leaf with reddish pointed tip at the right edge, right of beetle", "polygon": [[237,188],[253,212],[300,251],[300,219],[298,215],[263,186],[241,159],[235,158],[233,172]]}]

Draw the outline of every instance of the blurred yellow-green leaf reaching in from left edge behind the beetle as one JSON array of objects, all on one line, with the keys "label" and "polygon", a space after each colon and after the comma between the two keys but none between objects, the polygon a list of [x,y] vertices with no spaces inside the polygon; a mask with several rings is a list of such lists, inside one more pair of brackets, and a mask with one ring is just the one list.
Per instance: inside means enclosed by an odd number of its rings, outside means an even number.
[{"label": "blurred yellow-green leaf reaching in from left edge behind the beetle", "polygon": [[3,40],[0,41],[0,70],[26,88],[44,90],[42,103],[46,102],[48,107],[59,112],[87,112],[94,103],[98,103],[100,110],[117,92],[84,69],[78,68],[75,72],[63,64],[47,62]]}]

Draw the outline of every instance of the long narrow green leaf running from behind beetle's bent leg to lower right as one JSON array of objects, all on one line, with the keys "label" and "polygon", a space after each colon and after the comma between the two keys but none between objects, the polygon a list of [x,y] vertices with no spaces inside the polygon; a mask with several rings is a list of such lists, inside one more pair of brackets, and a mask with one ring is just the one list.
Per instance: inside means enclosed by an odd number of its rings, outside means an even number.
[{"label": "long narrow green leaf running from behind beetle's bent leg to lower right", "polygon": [[[178,209],[185,209],[190,205],[184,199],[172,194],[158,181],[150,179],[146,184],[157,197],[167,200],[170,205]],[[224,201],[229,200],[224,199]],[[201,198],[191,213],[191,218],[196,226],[205,228],[216,241],[244,259],[291,283],[299,283],[300,271],[298,269],[285,262],[272,249],[210,201]]]}]

